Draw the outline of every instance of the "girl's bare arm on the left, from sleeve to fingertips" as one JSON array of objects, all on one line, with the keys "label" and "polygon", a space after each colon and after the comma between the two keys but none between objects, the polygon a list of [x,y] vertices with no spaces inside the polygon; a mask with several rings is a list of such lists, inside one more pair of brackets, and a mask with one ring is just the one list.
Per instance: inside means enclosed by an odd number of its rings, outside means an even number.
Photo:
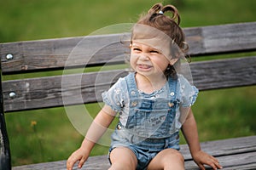
[{"label": "girl's bare arm on the left, from sleeve to fingertips", "polygon": [[105,105],[98,113],[94,121],[91,123],[83,143],[78,150],[75,150],[71,156],[67,159],[67,169],[72,170],[73,165],[79,161],[79,168],[84,165],[84,162],[90,155],[90,151],[96,144],[96,142],[102,137],[110,123],[113,121],[115,112]]}]

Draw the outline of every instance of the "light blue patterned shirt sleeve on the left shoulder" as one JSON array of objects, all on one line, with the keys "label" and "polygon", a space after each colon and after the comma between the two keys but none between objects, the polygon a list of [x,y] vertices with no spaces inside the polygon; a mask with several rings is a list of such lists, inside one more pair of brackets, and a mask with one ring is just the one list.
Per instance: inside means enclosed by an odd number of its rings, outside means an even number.
[{"label": "light blue patterned shirt sleeve on the left shoulder", "polygon": [[119,112],[125,104],[125,92],[127,86],[124,78],[119,78],[108,91],[102,93],[102,99],[105,105],[110,106],[113,111]]}]

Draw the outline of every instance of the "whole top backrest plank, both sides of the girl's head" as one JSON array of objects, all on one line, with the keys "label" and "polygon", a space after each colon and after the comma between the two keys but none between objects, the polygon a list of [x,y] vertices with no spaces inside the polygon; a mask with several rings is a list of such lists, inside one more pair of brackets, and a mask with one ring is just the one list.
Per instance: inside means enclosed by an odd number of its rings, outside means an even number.
[{"label": "whole top backrest plank, both sides of the girl's head", "polygon": [[[256,49],[256,22],[185,28],[190,55],[221,54]],[[129,34],[125,34],[129,35]],[[122,34],[70,37],[0,44],[3,74],[68,66],[125,62],[129,51]],[[13,59],[6,59],[13,54]]]}]

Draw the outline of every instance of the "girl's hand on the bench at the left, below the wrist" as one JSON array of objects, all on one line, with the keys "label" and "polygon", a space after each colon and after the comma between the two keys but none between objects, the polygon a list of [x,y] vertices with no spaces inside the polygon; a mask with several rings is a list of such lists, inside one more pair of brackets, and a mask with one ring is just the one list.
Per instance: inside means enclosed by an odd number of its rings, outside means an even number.
[{"label": "girl's hand on the bench at the left, below the wrist", "polygon": [[79,161],[78,167],[81,168],[84,165],[84,162],[88,159],[89,153],[84,150],[82,147],[79,150],[75,150],[71,156],[67,159],[67,170],[72,170],[74,164]]}]

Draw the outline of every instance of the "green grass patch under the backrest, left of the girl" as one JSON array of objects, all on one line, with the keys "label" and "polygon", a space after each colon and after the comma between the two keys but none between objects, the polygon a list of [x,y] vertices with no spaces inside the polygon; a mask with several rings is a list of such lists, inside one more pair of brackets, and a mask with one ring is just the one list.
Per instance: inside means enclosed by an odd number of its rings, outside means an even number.
[{"label": "green grass patch under the backrest, left of the girl", "polygon": [[6,120],[13,165],[63,159],[68,146],[81,142],[62,109],[10,113]]}]

